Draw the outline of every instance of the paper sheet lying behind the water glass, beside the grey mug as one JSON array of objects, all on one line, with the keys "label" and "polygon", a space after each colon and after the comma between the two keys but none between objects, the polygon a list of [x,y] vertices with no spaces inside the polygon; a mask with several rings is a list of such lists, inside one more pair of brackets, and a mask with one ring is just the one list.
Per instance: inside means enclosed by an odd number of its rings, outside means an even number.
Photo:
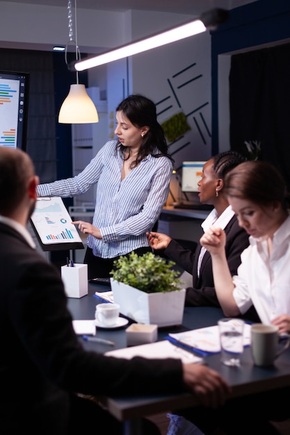
[{"label": "paper sheet lying behind the water glass, beside the grey mug", "polygon": [[[251,326],[245,323],[243,331],[244,346],[250,345]],[[180,343],[188,347],[193,352],[200,354],[213,354],[220,352],[220,336],[218,334],[218,325],[213,327],[192,329],[191,331],[179,332],[177,334],[168,334],[168,340],[171,343]]]}]

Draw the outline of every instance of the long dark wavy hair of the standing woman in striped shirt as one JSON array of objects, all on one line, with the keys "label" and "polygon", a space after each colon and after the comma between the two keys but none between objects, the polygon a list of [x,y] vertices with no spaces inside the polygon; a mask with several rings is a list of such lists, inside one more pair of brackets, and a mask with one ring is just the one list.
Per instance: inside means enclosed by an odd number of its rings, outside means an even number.
[{"label": "long dark wavy hair of the standing woman in striped shirt", "polygon": [[[131,165],[132,167],[137,166],[149,154],[153,157],[166,156],[173,163],[172,157],[168,154],[168,145],[164,131],[159,122],[157,122],[156,106],[153,101],[143,97],[143,95],[129,95],[118,105],[116,111],[122,111],[134,126],[138,128],[149,126],[150,128],[143,138],[143,144],[138,151],[136,161]],[[117,147],[119,147],[123,154],[127,150],[130,155],[131,149],[129,147],[124,147],[120,142],[118,142]],[[157,154],[154,153],[156,148],[159,150]]]}]

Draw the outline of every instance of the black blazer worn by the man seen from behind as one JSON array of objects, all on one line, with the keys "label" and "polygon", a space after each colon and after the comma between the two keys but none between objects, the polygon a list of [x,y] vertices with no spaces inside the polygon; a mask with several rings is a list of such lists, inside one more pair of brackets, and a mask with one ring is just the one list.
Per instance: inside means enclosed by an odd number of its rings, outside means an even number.
[{"label": "black blazer worn by the man seen from behind", "polygon": [[72,392],[184,391],[177,359],[148,364],[86,352],[74,334],[60,272],[1,222],[0,277],[1,434],[67,434]]}]

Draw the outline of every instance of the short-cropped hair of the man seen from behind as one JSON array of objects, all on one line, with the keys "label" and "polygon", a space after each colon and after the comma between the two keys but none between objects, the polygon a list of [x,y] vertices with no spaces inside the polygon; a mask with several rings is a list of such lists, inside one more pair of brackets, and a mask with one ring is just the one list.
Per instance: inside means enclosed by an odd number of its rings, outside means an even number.
[{"label": "short-cropped hair of the man seen from behind", "polygon": [[10,215],[22,201],[29,177],[34,174],[33,163],[20,149],[0,147],[0,214]]}]

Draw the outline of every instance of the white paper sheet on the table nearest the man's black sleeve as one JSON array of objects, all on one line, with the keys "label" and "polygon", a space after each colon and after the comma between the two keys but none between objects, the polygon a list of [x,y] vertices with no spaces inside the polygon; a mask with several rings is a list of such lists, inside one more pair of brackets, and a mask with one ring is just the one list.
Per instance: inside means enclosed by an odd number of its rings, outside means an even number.
[{"label": "white paper sheet on the table nearest the man's black sleeve", "polygon": [[196,356],[181,347],[172,345],[168,340],[111,350],[110,352],[106,352],[106,355],[126,359],[131,359],[134,356],[143,356],[148,359],[175,358],[181,359],[183,363],[202,363],[203,361],[200,356]]}]

